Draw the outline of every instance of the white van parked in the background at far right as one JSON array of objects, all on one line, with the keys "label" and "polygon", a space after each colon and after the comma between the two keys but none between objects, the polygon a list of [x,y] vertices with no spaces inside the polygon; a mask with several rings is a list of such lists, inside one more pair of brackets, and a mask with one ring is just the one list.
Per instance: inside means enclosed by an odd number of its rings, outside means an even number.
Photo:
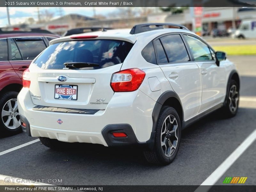
[{"label": "white van parked in the background at far right", "polygon": [[256,19],[242,20],[239,28],[232,35],[233,38],[256,38]]}]

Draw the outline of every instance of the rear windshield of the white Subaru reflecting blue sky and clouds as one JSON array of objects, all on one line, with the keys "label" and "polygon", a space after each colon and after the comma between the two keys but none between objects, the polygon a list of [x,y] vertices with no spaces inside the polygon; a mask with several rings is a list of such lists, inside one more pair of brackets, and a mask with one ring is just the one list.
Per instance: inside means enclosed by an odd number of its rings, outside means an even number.
[{"label": "rear windshield of the white Subaru reflecting blue sky and clouds", "polygon": [[119,40],[62,42],[50,45],[34,63],[42,69],[63,69],[64,63],[72,62],[98,64],[96,67],[87,66],[75,69],[105,68],[123,63],[132,45],[132,43]]}]

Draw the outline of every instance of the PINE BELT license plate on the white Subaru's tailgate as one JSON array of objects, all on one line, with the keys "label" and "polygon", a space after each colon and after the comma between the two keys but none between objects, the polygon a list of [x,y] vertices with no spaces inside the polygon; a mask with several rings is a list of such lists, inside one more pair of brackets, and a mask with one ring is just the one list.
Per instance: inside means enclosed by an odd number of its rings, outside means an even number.
[{"label": "PINE BELT license plate on the white Subaru's tailgate", "polygon": [[54,99],[77,100],[77,85],[56,84]]}]

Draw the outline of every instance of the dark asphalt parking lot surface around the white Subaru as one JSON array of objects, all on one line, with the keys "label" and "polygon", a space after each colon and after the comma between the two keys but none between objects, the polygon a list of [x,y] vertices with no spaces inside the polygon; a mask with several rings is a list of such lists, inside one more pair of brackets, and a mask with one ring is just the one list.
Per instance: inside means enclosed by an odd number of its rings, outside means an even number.
[{"label": "dark asphalt parking lot surface around the white Subaru", "polygon": [[[20,133],[0,138],[0,174],[23,179],[61,179],[54,185],[200,185],[256,127],[256,56],[233,56],[241,75],[240,108],[236,117],[218,112],[182,132],[179,153],[168,166],[152,166],[138,149],[75,144],[52,150],[40,142],[1,155],[1,152],[37,138]],[[220,175],[248,177],[256,185],[256,141]]]}]

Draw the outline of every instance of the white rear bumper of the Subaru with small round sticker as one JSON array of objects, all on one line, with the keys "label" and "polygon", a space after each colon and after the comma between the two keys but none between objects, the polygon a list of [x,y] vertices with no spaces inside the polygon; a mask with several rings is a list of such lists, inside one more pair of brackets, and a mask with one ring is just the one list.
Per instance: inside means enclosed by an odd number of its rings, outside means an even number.
[{"label": "white rear bumper of the Subaru with small round sticker", "polygon": [[33,110],[36,105],[32,102],[29,90],[23,88],[18,95],[21,121],[28,125],[26,132],[32,137],[47,137],[64,142],[97,143],[104,146],[118,145],[116,140],[109,140],[108,132],[112,130],[112,125],[115,125],[115,129],[122,130],[124,124],[129,127],[125,128],[129,140],[119,144],[146,143],[152,132],[152,112],[155,104],[154,100],[139,90],[121,92],[113,95],[105,110],[87,115]]}]

